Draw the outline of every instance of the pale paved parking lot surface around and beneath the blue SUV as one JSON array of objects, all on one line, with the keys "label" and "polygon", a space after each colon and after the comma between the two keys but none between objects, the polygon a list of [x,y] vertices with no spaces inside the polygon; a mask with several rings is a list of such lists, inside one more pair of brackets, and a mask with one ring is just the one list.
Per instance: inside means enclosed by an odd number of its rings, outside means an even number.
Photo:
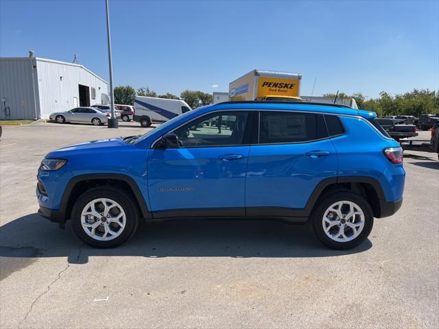
[{"label": "pale paved parking lot surface around and beneath the blue SUV", "polygon": [[93,249],[36,214],[36,170],[53,149],[147,131],[120,125],[3,127],[1,328],[439,328],[437,154],[405,151],[401,210],[346,252],[307,226],[230,220],[142,225]]}]

